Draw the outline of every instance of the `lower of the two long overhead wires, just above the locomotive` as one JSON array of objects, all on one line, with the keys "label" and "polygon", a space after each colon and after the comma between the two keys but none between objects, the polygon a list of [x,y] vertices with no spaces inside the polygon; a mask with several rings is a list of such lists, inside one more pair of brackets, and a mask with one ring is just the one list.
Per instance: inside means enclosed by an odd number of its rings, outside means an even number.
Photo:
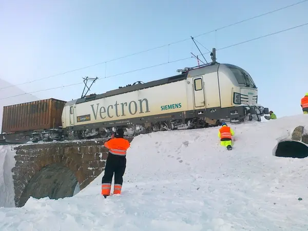
[{"label": "lower of the two long overhead wires, just above the locomotive", "polygon": [[[252,42],[252,41],[255,41],[255,40],[259,40],[260,38],[272,36],[274,34],[279,34],[279,33],[285,32],[285,31],[293,30],[293,29],[300,28],[300,27],[307,26],[307,25],[308,25],[308,23],[304,23],[304,24],[301,24],[301,25],[298,25],[298,26],[295,26],[295,27],[290,27],[290,28],[287,28],[287,29],[284,29],[284,30],[280,30],[280,31],[265,34],[265,35],[262,35],[262,36],[259,36],[259,37],[255,37],[255,38],[252,38],[250,40],[245,40],[245,41],[240,42],[240,43],[225,46],[225,47],[219,48],[217,50],[223,50],[223,49],[227,49],[227,48],[230,48],[230,47],[235,47],[235,46],[238,46],[238,45],[241,45],[241,44],[244,44],[244,43],[249,43],[249,42]],[[205,52],[203,54],[208,54],[208,53],[210,53],[210,52]],[[106,76],[103,79],[112,78],[112,77],[115,77],[115,76],[124,75],[124,74],[132,73],[132,72],[136,72],[136,71],[141,71],[141,70],[145,70],[145,69],[150,69],[150,68],[153,68],[153,67],[159,67],[159,66],[163,66],[163,65],[166,65],[166,64],[170,64],[170,63],[176,63],[176,62],[180,62],[180,61],[184,61],[184,60],[189,60],[189,59],[192,59],[192,58],[193,58],[193,56],[190,56],[190,57],[186,57],[184,59],[174,60],[174,61],[165,62],[165,63],[161,63],[161,64],[157,64],[157,65],[152,65],[152,66],[148,66],[148,67],[144,67],[144,68],[139,68],[139,69],[135,69],[135,70],[131,70],[131,71],[126,71],[126,72],[122,72],[122,73],[118,73],[118,74],[113,74],[113,75]],[[100,81],[100,80],[102,80],[102,79],[99,79],[97,81]],[[31,93],[36,93],[36,92],[42,92],[42,91],[48,91],[48,90],[54,90],[54,89],[59,89],[59,88],[64,88],[64,87],[75,86],[75,85],[79,85],[79,84],[83,84],[83,82],[69,84],[69,85],[63,85],[63,86],[53,87],[53,88],[48,88],[48,89],[43,89],[43,90],[31,91],[31,92],[27,92],[27,93],[23,93],[23,94],[16,94],[16,95],[12,95],[10,97],[1,98],[0,100],[18,97],[20,95],[25,95],[25,94],[31,94]]]}]

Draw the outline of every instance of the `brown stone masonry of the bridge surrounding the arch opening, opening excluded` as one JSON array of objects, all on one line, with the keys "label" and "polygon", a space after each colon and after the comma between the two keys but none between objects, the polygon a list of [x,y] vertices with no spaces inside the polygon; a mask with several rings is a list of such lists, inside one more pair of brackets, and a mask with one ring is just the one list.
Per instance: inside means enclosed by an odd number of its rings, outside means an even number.
[{"label": "brown stone masonry of the bridge surrounding the arch opening, opening excluded", "polygon": [[[129,142],[133,138],[128,139]],[[85,188],[105,169],[108,149],[106,139],[97,141],[50,142],[16,146],[14,172],[15,205],[30,179],[44,166],[59,163],[68,167],[80,184]]]}]

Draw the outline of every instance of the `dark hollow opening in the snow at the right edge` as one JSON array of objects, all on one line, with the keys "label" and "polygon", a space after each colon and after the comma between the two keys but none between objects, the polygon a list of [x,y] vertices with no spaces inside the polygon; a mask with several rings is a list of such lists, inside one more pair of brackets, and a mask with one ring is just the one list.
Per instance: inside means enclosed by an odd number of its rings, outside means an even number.
[{"label": "dark hollow opening in the snow at the right edge", "polygon": [[297,141],[280,141],[275,151],[276,157],[306,158],[308,157],[308,146]]}]

